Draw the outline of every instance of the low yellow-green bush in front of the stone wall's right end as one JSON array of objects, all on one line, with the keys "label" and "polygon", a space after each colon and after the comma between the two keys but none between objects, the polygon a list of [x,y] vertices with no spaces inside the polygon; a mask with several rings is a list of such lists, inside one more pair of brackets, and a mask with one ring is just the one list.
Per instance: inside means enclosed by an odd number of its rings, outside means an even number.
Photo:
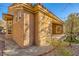
[{"label": "low yellow-green bush in front of the stone wall's right end", "polygon": [[50,40],[48,43],[55,48],[54,53],[55,55],[60,55],[60,56],[71,56],[72,51],[67,49],[69,46],[68,42],[60,41],[60,40]]}]

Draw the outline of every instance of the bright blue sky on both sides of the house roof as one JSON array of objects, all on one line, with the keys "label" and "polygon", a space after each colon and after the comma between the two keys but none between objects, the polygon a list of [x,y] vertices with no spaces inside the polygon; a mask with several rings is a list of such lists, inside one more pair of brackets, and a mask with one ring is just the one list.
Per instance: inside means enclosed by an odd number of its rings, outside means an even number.
[{"label": "bright blue sky on both sides of the house roof", "polygon": [[[0,20],[2,19],[2,13],[8,12],[8,7],[11,3],[0,3]],[[69,14],[79,13],[79,3],[43,3],[49,11],[65,21]]]}]

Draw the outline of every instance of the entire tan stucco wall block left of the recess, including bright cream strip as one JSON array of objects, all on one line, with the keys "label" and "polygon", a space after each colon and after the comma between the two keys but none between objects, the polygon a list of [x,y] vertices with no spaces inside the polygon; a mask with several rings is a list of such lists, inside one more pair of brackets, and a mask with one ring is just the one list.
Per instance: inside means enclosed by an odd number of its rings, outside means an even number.
[{"label": "entire tan stucco wall block left of the recess, including bright cream strip", "polygon": [[21,47],[30,46],[34,41],[34,15],[23,10],[22,19],[13,20],[13,40]]}]

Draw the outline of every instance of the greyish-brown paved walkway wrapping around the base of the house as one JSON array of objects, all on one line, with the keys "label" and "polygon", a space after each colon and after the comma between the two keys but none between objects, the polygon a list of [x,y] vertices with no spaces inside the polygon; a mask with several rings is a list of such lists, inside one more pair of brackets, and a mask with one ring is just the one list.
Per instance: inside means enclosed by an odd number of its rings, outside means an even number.
[{"label": "greyish-brown paved walkway wrapping around the base of the house", "polygon": [[37,56],[49,52],[52,46],[30,46],[20,48],[14,41],[5,40],[4,56]]}]

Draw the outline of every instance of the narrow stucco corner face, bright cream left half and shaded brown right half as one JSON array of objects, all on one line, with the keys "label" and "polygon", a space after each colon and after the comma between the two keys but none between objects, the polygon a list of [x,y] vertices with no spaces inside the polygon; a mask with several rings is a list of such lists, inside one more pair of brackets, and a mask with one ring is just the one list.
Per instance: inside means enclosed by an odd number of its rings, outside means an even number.
[{"label": "narrow stucco corner face, bright cream left half and shaded brown right half", "polygon": [[32,13],[24,12],[24,45],[32,45],[34,40],[34,16]]}]

